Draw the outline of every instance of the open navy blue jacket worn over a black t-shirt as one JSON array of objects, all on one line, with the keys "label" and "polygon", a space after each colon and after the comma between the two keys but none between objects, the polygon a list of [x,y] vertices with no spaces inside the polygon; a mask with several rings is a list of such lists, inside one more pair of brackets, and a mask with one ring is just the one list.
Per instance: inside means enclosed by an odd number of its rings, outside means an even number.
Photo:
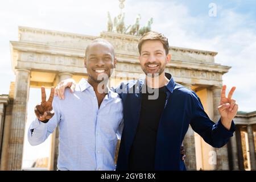
[{"label": "open navy blue jacket worn over a black t-shirt", "polygon": [[[211,121],[195,92],[174,82],[167,84],[167,98],[164,111],[159,121],[155,146],[155,170],[185,170],[180,158],[180,146],[187,133],[189,124],[205,142],[213,147],[224,146],[235,130],[234,122],[230,130],[225,129],[219,120]],[[127,170],[129,153],[133,143],[141,112],[141,92],[144,80],[131,80],[121,84],[115,92],[123,100],[123,127],[116,170]]]}]

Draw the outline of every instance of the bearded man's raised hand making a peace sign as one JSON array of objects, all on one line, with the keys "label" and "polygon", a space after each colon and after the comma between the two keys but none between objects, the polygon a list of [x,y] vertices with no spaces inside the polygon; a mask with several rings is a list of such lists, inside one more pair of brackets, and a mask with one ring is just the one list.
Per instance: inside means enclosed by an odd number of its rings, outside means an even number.
[{"label": "bearded man's raised hand making a peace sign", "polygon": [[236,90],[235,86],[232,87],[228,97],[226,97],[226,85],[222,86],[221,101],[220,106],[218,106],[218,112],[221,115],[221,123],[228,130],[230,130],[232,119],[236,116],[238,110],[238,104],[236,100],[232,98],[234,90]]}]

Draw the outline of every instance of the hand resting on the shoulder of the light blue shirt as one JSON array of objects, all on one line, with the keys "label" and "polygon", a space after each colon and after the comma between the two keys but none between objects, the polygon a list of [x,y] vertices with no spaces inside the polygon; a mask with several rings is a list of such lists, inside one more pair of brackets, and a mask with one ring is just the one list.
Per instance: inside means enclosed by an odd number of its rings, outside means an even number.
[{"label": "hand resting on the shoulder of the light blue shirt", "polygon": [[72,78],[68,78],[59,82],[59,84],[55,87],[54,96],[58,96],[59,99],[64,99],[65,88],[70,88],[70,92],[73,93],[76,88],[76,82]]}]

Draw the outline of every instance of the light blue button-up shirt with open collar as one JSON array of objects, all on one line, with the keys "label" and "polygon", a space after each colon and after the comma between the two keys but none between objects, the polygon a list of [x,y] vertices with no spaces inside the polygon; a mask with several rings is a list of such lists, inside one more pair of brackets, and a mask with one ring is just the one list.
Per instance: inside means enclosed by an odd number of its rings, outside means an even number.
[{"label": "light blue button-up shirt with open collar", "polygon": [[53,99],[55,115],[47,123],[37,118],[28,129],[28,142],[37,145],[59,125],[60,170],[114,170],[114,155],[123,128],[122,100],[109,89],[98,108],[93,87],[84,79],[65,99]]}]

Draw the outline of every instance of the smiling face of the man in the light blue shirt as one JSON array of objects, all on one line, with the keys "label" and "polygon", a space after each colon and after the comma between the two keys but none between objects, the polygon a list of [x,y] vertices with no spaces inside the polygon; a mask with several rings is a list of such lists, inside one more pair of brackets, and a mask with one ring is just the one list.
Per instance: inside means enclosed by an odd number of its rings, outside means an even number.
[{"label": "smiling face of the man in the light blue shirt", "polygon": [[102,77],[110,77],[115,67],[114,49],[108,42],[93,42],[86,49],[85,67],[88,81],[101,82]]}]

